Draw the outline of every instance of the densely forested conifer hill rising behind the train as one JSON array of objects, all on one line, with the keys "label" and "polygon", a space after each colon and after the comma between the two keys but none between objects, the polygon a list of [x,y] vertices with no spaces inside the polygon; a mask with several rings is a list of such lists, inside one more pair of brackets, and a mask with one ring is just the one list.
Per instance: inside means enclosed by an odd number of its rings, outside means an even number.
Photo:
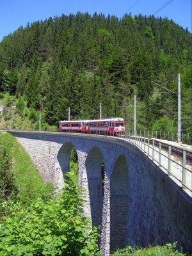
[{"label": "densely forested conifer hill rising behind the train", "polygon": [[[121,116],[132,128],[133,95],[137,129],[152,129],[163,118],[177,129],[177,92],[182,84],[182,131],[190,132],[191,33],[172,20],[153,16],[62,15],[20,27],[0,44],[0,93],[18,98],[23,114],[42,109],[49,125],[71,118]],[[164,116],[164,117],[163,117]],[[37,120],[37,119],[36,119]],[[157,129],[158,129],[157,123]]]}]

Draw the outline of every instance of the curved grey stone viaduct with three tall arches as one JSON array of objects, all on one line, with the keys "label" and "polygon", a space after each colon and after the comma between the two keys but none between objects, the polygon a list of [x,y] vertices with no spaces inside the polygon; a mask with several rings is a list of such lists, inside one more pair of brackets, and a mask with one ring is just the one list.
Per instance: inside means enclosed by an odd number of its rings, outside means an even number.
[{"label": "curved grey stone viaduct with three tall arches", "polygon": [[76,148],[79,186],[88,192],[85,214],[101,226],[102,255],[117,246],[174,241],[192,251],[191,197],[131,143],[91,134],[11,132],[42,178],[59,188]]}]

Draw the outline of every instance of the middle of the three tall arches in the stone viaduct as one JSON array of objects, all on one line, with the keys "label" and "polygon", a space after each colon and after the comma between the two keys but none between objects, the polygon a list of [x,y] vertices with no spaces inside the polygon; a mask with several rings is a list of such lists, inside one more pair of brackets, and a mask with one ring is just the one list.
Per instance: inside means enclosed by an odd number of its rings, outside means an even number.
[{"label": "middle of the three tall arches in the stone viaduct", "polygon": [[86,175],[88,181],[88,192],[90,198],[90,211],[92,216],[92,227],[101,226],[102,223],[102,173],[103,157],[98,147],[93,147],[86,158]]}]

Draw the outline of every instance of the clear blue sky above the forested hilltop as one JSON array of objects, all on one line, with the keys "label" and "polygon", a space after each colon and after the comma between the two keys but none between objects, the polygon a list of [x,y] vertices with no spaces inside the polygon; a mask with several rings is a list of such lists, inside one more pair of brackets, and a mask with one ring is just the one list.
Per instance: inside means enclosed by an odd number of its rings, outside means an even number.
[{"label": "clear blue sky above the forested hilltop", "polygon": [[[0,41],[4,36],[25,27],[27,22],[60,16],[62,13],[104,13],[121,18],[156,13],[169,0],[0,0]],[[191,31],[191,0],[172,0],[156,17],[167,17]]]}]

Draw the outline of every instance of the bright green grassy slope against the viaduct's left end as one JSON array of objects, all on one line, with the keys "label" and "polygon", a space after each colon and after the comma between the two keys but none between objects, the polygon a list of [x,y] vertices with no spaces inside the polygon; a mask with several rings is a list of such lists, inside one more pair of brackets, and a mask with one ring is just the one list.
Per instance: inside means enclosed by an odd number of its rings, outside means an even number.
[{"label": "bright green grassy slope against the viaduct's left end", "polygon": [[50,196],[52,184],[45,184],[31,158],[12,134],[0,133],[0,143],[10,150],[13,160],[12,171],[15,173],[15,184],[19,189],[19,199],[30,204],[37,197]]}]

